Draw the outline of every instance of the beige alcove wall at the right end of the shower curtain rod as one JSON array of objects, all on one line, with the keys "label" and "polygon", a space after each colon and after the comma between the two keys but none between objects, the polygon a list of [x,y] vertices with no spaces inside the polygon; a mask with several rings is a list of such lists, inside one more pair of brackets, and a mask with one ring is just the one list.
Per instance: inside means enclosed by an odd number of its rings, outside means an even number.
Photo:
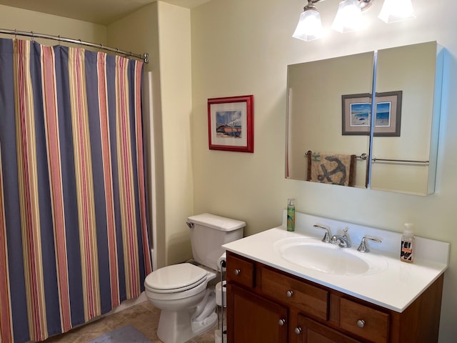
[{"label": "beige alcove wall at the right end of the shower curtain rod", "polygon": [[[151,249],[165,247],[164,211],[164,154],[161,124],[161,87],[159,59],[159,16],[157,3],[144,6],[124,19],[110,24],[107,29],[109,46],[122,46],[126,51],[149,54],[144,71],[152,74],[152,109],[144,114],[144,139],[146,145],[146,171],[149,189],[149,214]],[[146,74],[145,74],[146,75]],[[160,199],[160,201],[157,201]],[[166,249],[154,249],[154,268],[166,264]]]}]

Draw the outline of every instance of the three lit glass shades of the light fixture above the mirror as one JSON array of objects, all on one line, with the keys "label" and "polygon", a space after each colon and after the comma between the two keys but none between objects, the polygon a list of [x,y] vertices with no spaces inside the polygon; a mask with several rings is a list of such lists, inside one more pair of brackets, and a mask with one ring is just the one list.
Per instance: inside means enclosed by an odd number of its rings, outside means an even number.
[{"label": "three lit glass shades of the light fixture above the mirror", "polygon": [[[293,32],[293,37],[303,41],[319,39],[323,35],[321,14],[316,3],[323,0],[308,0]],[[374,0],[343,0],[331,28],[346,33],[362,28],[362,11],[368,9]],[[384,0],[379,19],[391,23],[416,18],[411,0]]]}]

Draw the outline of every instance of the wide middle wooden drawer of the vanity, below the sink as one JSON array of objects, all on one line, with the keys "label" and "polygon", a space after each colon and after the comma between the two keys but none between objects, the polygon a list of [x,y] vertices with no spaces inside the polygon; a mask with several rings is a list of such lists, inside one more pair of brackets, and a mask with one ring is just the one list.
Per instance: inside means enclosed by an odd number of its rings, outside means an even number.
[{"label": "wide middle wooden drawer of the vanity, below the sink", "polygon": [[328,320],[327,291],[267,268],[262,268],[261,275],[264,294],[292,305],[301,312]]}]

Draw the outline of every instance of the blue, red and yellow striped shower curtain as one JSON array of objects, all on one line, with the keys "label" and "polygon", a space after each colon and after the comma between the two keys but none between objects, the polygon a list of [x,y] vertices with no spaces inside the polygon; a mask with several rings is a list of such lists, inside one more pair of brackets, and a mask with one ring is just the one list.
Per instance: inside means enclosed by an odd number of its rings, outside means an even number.
[{"label": "blue, red and yellow striped shower curtain", "polygon": [[151,272],[143,63],[0,39],[0,342],[138,297]]}]

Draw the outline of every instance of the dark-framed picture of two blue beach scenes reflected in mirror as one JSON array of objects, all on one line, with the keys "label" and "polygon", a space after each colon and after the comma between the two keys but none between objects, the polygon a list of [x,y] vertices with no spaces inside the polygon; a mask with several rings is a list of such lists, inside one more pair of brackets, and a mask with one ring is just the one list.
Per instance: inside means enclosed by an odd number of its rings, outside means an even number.
[{"label": "dark-framed picture of two blue beach scenes reflected in mirror", "polygon": [[[402,91],[376,93],[374,136],[400,136]],[[370,134],[371,94],[341,96],[343,135]]]}]

